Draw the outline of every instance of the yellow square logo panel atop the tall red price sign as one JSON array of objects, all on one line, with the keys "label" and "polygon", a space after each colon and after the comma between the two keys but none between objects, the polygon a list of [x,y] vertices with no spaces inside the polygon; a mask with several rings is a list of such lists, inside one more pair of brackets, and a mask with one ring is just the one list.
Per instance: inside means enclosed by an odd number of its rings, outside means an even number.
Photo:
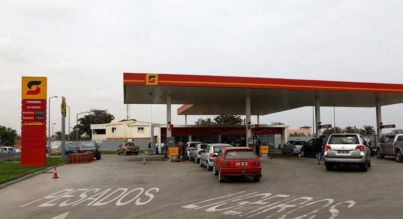
[{"label": "yellow square logo panel atop the tall red price sign", "polygon": [[21,96],[22,99],[46,99],[47,98],[46,77],[22,77]]}]

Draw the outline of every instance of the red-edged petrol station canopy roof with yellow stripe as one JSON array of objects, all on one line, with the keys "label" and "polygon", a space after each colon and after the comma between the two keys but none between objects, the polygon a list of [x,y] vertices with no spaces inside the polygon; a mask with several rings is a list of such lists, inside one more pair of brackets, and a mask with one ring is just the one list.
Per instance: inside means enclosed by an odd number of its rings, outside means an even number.
[{"label": "red-edged petrol station canopy roof with yellow stripe", "polygon": [[375,107],[403,103],[403,85],[329,80],[123,73],[126,104],[184,104],[178,115],[267,115],[304,106]]}]

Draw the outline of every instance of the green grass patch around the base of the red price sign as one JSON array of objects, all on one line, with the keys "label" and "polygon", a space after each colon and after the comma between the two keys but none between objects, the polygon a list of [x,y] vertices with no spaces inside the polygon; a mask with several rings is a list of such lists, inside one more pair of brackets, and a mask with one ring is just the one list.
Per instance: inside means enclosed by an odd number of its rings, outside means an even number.
[{"label": "green grass patch around the base of the red price sign", "polygon": [[60,157],[46,157],[46,166],[44,167],[21,167],[20,159],[12,159],[0,162],[0,184],[27,176],[48,167],[65,163]]}]

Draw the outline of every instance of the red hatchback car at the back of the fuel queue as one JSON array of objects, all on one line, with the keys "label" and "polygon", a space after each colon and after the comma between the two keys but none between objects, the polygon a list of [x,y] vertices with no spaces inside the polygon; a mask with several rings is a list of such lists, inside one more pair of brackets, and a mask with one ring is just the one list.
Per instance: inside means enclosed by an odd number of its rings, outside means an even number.
[{"label": "red hatchback car at the back of the fuel queue", "polygon": [[230,176],[251,176],[255,182],[262,177],[260,159],[251,148],[226,147],[214,157],[213,174],[218,175],[219,182]]}]

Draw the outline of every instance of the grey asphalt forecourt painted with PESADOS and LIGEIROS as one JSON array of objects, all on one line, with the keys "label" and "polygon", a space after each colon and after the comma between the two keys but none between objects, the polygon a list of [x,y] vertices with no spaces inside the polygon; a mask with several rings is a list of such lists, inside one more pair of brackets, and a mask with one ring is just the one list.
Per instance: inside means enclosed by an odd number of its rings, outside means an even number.
[{"label": "grey asphalt forecourt painted with PESADOS and LIGEIROS", "polygon": [[326,171],[315,158],[263,157],[260,182],[219,183],[198,164],[105,155],[0,189],[1,218],[400,218],[403,163],[372,157]]}]

